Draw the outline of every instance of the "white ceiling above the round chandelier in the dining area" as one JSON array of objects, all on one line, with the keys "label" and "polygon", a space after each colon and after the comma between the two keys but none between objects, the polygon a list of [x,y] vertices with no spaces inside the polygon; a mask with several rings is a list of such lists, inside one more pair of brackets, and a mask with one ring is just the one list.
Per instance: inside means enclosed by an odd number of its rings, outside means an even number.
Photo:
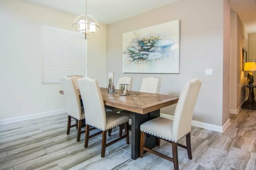
[{"label": "white ceiling above the round chandelier in the dining area", "polygon": [[[85,14],[86,0],[22,0],[76,16]],[[87,0],[87,14],[100,23],[113,23],[177,0]]]}]

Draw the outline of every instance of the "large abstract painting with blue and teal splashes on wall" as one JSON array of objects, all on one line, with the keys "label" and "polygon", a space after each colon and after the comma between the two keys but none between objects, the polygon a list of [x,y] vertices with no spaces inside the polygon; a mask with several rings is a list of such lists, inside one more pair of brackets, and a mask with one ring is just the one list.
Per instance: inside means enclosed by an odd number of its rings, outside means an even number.
[{"label": "large abstract painting with blue and teal splashes on wall", "polygon": [[180,21],[123,33],[122,72],[180,73]]}]

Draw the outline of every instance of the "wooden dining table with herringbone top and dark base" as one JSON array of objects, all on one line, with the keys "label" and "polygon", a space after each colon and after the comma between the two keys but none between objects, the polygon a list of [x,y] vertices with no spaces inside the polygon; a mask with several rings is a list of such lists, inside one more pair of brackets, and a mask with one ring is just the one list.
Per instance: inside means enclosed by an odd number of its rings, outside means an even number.
[{"label": "wooden dining table with herringbone top and dark base", "polygon": [[[108,88],[100,88],[105,106],[112,106],[118,109],[131,112],[131,158],[137,159],[140,155],[140,125],[150,119],[160,116],[160,109],[178,102],[177,96],[165,94],[152,94],[145,92],[130,91],[129,96],[120,96],[116,89],[114,94],[108,94]],[[59,92],[64,94],[62,90]],[[80,90],[78,89],[80,99]],[[154,148],[157,146],[157,137],[148,135],[145,146]]]}]

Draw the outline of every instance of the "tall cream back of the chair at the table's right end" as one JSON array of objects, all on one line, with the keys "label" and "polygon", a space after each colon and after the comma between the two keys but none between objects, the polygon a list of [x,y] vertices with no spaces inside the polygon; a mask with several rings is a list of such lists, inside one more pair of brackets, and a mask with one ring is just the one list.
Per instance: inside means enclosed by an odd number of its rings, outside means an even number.
[{"label": "tall cream back of the chair at the table's right end", "polygon": [[191,131],[194,107],[201,84],[202,81],[195,78],[186,82],[183,87],[173,119],[172,136],[174,142],[177,142]]}]

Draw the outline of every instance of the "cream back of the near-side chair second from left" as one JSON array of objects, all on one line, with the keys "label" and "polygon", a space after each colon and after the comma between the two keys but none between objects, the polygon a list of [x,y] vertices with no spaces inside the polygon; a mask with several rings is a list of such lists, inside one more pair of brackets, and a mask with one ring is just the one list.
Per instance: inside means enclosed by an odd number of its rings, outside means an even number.
[{"label": "cream back of the near-side chair second from left", "polygon": [[106,112],[97,80],[88,77],[77,80],[84,104],[86,124],[100,130],[106,129]]}]

